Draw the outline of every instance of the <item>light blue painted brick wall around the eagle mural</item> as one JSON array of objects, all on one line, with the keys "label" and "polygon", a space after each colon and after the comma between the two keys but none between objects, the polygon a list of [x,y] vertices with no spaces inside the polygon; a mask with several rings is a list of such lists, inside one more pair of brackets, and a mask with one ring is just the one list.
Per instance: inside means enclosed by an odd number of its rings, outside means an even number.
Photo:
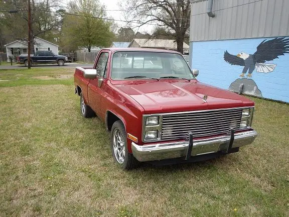
[{"label": "light blue painted brick wall around the eagle mural", "polygon": [[[228,89],[233,81],[240,78],[244,67],[225,62],[224,52],[227,50],[233,55],[240,52],[254,54],[265,39],[273,38],[191,42],[192,68],[199,69],[199,81]],[[255,81],[264,98],[289,102],[289,54],[266,63],[277,65],[268,73],[259,73],[255,69],[250,79]]]}]

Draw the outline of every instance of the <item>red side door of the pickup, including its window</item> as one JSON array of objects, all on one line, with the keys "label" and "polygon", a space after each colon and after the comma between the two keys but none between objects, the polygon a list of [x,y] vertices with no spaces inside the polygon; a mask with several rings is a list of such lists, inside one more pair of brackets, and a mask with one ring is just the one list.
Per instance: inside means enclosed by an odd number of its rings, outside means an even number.
[{"label": "red side door of the pickup, including its window", "polygon": [[103,95],[103,87],[106,80],[108,56],[108,51],[101,51],[95,66],[97,77],[90,79],[88,84],[89,105],[98,117],[101,117],[101,96]]}]

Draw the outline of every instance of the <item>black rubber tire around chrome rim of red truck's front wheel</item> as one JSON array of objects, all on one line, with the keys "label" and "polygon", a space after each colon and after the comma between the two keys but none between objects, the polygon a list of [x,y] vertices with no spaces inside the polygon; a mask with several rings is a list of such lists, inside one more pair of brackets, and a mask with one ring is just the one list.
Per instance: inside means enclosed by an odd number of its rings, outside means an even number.
[{"label": "black rubber tire around chrome rim of red truck's front wheel", "polygon": [[[123,151],[124,151],[124,157],[123,157],[123,162],[119,160],[119,157],[116,156],[115,149],[114,149],[114,143],[115,143],[115,137],[114,133],[120,131],[120,134],[122,135],[123,138]],[[122,124],[121,121],[116,121],[113,123],[112,128],[111,128],[111,138],[110,138],[110,148],[112,152],[113,159],[118,165],[124,169],[124,170],[130,170],[136,167],[138,161],[133,157],[131,153],[128,152],[127,150],[127,143],[126,143],[126,132],[124,125]],[[116,151],[117,152],[117,151]]]}]

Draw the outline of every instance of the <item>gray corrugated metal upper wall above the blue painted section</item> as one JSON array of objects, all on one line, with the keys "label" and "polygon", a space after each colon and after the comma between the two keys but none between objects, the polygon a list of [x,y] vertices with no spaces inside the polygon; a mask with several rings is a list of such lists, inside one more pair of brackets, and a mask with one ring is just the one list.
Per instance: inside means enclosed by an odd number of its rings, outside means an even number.
[{"label": "gray corrugated metal upper wall above the blue painted section", "polygon": [[289,35],[289,0],[214,0],[214,18],[207,2],[192,2],[190,41]]}]

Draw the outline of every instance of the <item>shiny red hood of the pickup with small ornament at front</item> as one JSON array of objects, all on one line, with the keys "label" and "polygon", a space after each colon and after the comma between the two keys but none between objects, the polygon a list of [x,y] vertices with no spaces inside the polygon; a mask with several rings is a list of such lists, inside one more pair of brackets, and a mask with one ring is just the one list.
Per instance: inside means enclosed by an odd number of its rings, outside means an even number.
[{"label": "shiny red hood of the pickup with small ornament at front", "polygon": [[[127,81],[116,88],[128,94],[145,114],[187,112],[218,108],[252,106],[246,97],[197,80]],[[204,100],[204,95],[207,99]]]}]

